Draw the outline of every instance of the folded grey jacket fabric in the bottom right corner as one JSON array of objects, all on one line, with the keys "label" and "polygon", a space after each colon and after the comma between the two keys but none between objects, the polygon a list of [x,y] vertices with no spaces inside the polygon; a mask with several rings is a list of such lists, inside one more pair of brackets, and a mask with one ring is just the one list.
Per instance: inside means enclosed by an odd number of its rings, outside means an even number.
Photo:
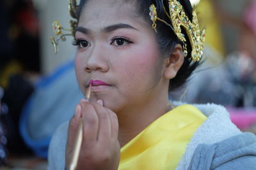
[{"label": "folded grey jacket fabric in the bottom right corner", "polygon": [[256,136],[241,133],[212,145],[196,148],[189,169],[255,169]]}]

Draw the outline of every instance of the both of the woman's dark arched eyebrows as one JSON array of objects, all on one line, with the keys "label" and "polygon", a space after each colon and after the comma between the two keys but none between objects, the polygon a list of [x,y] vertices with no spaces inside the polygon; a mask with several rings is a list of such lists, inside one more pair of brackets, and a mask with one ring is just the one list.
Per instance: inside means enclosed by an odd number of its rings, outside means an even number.
[{"label": "both of the woman's dark arched eyebrows", "polygon": [[[136,28],[132,27],[131,25],[129,24],[115,24],[115,25],[109,25],[108,27],[104,27],[104,29],[102,29],[103,32],[113,32],[115,31],[116,29],[134,29],[134,30],[137,30]],[[77,27],[75,32],[76,31],[79,31],[79,32],[82,32],[83,34],[90,34],[90,30],[89,29],[86,29],[85,27]]]}]

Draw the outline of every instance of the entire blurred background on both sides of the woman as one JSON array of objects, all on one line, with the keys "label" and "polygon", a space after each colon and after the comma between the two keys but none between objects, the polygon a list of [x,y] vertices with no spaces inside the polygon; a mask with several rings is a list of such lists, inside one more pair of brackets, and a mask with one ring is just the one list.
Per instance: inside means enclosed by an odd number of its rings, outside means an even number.
[{"label": "entire blurred background on both sides of the woman", "polygon": [[[170,99],[222,104],[237,127],[256,133],[256,0],[191,3],[207,26],[204,63]],[[83,97],[73,38],[57,54],[50,41],[52,22],[69,29],[70,19],[67,1],[0,1],[0,169],[46,169],[52,134]]]}]

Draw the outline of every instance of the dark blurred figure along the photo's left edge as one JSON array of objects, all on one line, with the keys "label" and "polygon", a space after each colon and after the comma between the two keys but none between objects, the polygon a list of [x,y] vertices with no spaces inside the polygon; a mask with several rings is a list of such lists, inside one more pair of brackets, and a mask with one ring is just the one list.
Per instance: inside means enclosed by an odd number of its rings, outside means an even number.
[{"label": "dark blurred figure along the photo's left edge", "polygon": [[0,87],[8,107],[1,120],[8,131],[8,151],[26,155],[31,151],[20,137],[20,112],[40,74],[39,27],[32,1],[0,1],[0,22]]}]

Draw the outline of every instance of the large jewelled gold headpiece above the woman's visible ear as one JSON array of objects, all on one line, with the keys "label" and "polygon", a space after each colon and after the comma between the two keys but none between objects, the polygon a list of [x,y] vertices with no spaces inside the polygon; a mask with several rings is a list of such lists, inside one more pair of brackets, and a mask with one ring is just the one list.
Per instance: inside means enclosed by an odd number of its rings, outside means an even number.
[{"label": "large jewelled gold headpiece above the woman's visible ear", "polygon": [[[152,20],[152,28],[156,31],[156,21],[159,20],[164,22],[164,24],[171,27],[173,32],[177,35],[177,37],[182,41],[184,56],[188,55],[186,38],[185,35],[182,34],[181,28],[184,28],[186,31],[190,44],[191,44],[191,59],[193,61],[199,61],[202,58],[203,50],[204,50],[204,41],[205,41],[205,27],[200,31],[197,16],[195,10],[193,10],[193,20],[192,22],[189,20],[188,16],[184,12],[182,5],[177,0],[168,0],[169,3],[169,13],[165,11],[166,15],[170,18],[172,25],[168,24],[166,21],[157,17],[156,7],[152,4],[149,8],[150,10],[150,19]],[[165,10],[165,9],[164,9]]]}]

